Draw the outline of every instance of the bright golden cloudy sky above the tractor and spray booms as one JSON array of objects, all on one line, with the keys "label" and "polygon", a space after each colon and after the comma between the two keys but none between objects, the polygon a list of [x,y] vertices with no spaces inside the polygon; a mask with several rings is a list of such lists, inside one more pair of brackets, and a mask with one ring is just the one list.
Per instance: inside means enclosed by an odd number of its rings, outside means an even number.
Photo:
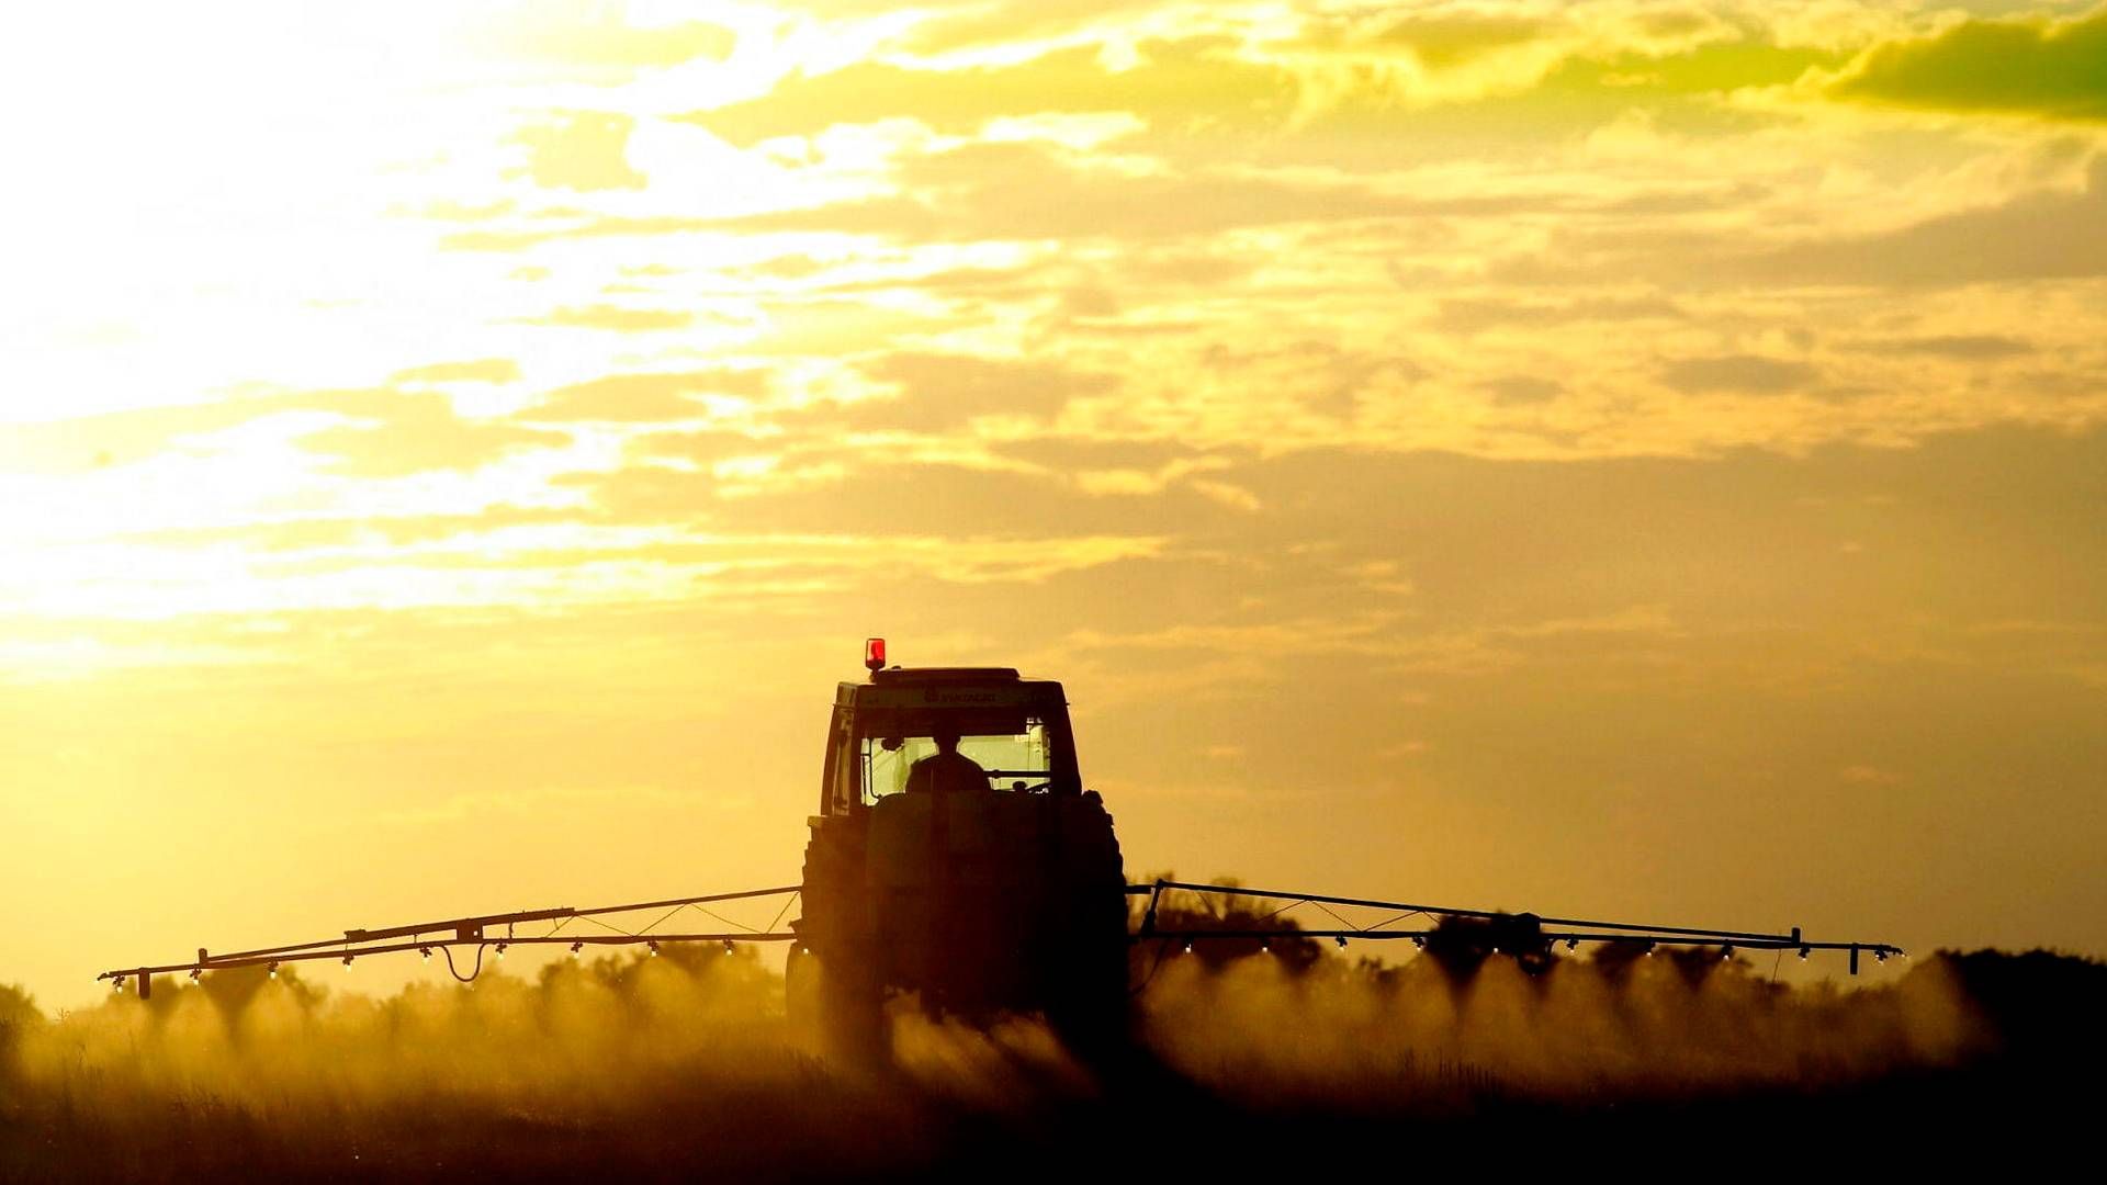
[{"label": "bright golden cloudy sky above the tractor and spray booms", "polygon": [[46,1006],[794,881],[870,635],[1136,875],[2107,953],[2107,6],[4,23]]}]

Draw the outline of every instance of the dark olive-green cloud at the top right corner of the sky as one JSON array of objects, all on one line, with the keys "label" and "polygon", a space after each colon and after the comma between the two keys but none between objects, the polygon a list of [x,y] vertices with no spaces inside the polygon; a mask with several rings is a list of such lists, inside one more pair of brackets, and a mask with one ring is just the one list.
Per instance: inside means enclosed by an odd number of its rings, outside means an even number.
[{"label": "dark olive-green cloud at the top right corner of the sky", "polygon": [[1827,93],[1945,112],[2107,118],[2107,8],[2052,21],[1966,19],[1928,38],[1884,42]]}]

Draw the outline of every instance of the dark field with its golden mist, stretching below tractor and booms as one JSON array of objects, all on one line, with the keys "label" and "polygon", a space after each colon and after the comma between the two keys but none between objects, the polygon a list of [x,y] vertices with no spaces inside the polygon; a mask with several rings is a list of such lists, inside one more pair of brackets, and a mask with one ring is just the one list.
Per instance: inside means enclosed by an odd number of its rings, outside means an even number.
[{"label": "dark field with its golden mist, stretching below tractor and booms", "polygon": [[1863,991],[1768,970],[1174,955],[1144,968],[1136,1048],[1096,1065],[1032,1021],[908,1008],[887,1065],[834,1065],[716,949],[388,999],[291,970],[57,1018],[8,993],[0,1179],[1778,1174],[2080,1141],[2107,966],[1941,953]]}]

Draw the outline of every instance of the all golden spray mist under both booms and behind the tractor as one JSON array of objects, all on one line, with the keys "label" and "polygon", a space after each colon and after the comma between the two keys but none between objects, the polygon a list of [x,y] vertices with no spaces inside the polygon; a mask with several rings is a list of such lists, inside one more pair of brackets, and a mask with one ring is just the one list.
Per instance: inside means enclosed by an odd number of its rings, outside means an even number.
[{"label": "all golden spray mist under both booms and behind the tractor", "polygon": [[[796,1086],[841,1067],[784,1018],[782,980],[752,953],[560,961],[535,978],[413,985],[371,999],[287,970],[162,983],[55,1021],[13,1025],[15,1075],[76,1096],[289,1107],[453,1103],[607,1111],[668,1080]],[[1144,951],[1144,957],[1148,953]],[[1180,1073],[1254,1096],[1414,1099],[1452,1086],[1542,1096],[1835,1084],[1951,1065],[1989,1042],[1945,959],[1890,985],[1783,987],[1742,959],[1561,959],[1523,974],[1488,959],[1171,953],[1138,995],[1142,1042]],[[314,976],[318,978],[318,976]],[[1087,1094],[1091,1071],[1030,1018],[976,1027],[891,1008],[893,1071],[954,1101]]]}]

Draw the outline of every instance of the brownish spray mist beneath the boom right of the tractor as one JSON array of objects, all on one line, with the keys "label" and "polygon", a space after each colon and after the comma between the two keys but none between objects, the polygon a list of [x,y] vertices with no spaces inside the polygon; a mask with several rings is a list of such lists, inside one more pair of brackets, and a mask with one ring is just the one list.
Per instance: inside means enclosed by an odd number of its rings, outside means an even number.
[{"label": "brownish spray mist beneath the boom right of the tractor", "polygon": [[1167,957],[1142,999],[1159,1054],[1254,1101],[1448,1109],[1496,1092],[1547,1101],[1827,1088],[1955,1065],[1991,1033],[1945,959],[1892,985],[1780,987],[1715,951],[1629,966],[1488,959],[1389,968],[1323,957]]}]

